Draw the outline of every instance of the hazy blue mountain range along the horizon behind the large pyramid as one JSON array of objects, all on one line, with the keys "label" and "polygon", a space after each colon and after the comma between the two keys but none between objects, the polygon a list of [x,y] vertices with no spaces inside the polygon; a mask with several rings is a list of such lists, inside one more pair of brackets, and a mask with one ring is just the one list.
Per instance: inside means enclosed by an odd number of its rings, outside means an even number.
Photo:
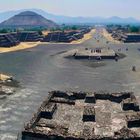
[{"label": "hazy blue mountain range along the horizon behind the large pyramid", "polygon": [[[91,23],[91,24],[140,24],[140,21],[133,18],[120,18],[120,17],[110,17],[110,18],[103,18],[103,17],[69,17],[69,16],[62,16],[62,15],[55,15],[55,14],[50,14],[46,11],[40,10],[40,9],[28,9],[29,11],[36,12],[43,17],[52,20],[58,24],[62,23],[71,23],[71,24],[84,24],[84,23]],[[4,13],[0,13],[0,22],[16,15],[19,14],[20,12],[27,11],[27,9],[24,10],[19,10],[19,11],[8,11]]]}]

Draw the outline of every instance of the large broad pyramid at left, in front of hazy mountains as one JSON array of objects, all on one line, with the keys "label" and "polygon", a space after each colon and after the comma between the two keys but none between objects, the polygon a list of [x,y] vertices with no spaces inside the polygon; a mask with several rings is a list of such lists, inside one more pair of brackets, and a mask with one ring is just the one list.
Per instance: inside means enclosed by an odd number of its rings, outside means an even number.
[{"label": "large broad pyramid at left, in front of hazy mountains", "polygon": [[44,18],[42,15],[32,11],[21,12],[5,21],[2,27],[47,27],[55,28],[58,25],[51,20]]}]

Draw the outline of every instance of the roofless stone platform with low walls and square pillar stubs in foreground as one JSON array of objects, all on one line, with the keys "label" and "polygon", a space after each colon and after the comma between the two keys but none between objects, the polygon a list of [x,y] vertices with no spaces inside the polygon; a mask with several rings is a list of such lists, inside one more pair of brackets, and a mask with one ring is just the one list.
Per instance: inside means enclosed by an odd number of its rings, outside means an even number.
[{"label": "roofless stone platform with low walls and square pillar stubs in foreground", "polygon": [[52,91],[22,131],[22,140],[137,140],[134,93]]}]

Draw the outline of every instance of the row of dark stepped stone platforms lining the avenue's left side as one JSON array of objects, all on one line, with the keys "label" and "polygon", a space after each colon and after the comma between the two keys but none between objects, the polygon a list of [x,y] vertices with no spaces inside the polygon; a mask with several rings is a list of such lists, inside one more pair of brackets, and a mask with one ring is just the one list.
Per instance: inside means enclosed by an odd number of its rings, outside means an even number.
[{"label": "row of dark stepped stone platforms lining the avenue's left side", "polygon": [[82,39],[84,34],[89,33],[90,28],[79,29],[76,31],[70,30],[67,32],[56,31],[50,32],[46,36],[40,35],[37,31],[20,31],[12,33],[0,34],[0,47],[13,47],[20,42],[64,42],[70,43],[72,41]]}]

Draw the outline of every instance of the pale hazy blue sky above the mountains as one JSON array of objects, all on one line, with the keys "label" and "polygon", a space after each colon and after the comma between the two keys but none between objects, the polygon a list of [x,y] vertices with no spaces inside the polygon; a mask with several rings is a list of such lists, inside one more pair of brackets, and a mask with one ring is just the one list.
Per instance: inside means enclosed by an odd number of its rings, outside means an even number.
[{"label": "pale hazy blue sky above the mountains", "polygon": [[85,17],[134,17],[140,19],[140,0],[0,0],[0,12],[37,8],[46,12]]}]

